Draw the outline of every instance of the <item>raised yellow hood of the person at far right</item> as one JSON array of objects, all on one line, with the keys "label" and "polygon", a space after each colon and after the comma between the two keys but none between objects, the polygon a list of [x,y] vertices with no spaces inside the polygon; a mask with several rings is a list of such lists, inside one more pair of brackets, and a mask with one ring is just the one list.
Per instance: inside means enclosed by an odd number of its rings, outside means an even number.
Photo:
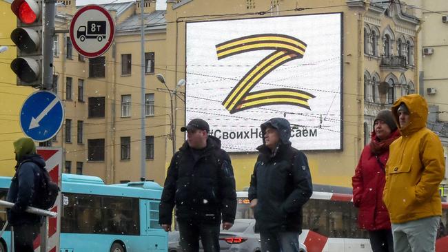
[{"label": "raised yellow hood of the person at far right", "polygon": [[[398,119],[398,107],[402,103],[405,103],[406,107],[409,109],[409,124],[406,127],[400,126],[400,120]],[[426,127],[426,121],[428,118],[428,104],[425,98],[418,94],[409,94],[407,96],[402,96],[392,105],[392,114],[399,126],[400,132],[403,136],[409,136],[414,132]]]}]

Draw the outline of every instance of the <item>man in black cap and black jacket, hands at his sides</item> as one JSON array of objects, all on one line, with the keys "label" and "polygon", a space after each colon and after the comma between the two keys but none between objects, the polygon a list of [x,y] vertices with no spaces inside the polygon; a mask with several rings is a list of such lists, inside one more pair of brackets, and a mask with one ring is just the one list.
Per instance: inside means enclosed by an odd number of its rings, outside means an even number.
[{"label": "man in black cap and black jacket, hands at his sides", "polygon": [[159,223],[171,230],[176,205],[183,251],[219,251],[219,225],[232,227],[236,214],[235,178],[221,141],[209,136],[205,120],[193,119],[181,128],[187,141],[172,157],[159,209]]}]

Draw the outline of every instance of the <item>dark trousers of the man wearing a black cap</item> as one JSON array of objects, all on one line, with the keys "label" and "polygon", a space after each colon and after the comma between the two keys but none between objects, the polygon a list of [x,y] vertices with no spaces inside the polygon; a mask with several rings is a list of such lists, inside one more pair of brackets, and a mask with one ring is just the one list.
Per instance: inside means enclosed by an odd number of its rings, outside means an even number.
[{"label": "dark trousers of the man wearing a black cap", "polygon": [[199,238],[204,252],[219,251],[219,224],[179,222],[179,236],[182,251],[199,251]]}]

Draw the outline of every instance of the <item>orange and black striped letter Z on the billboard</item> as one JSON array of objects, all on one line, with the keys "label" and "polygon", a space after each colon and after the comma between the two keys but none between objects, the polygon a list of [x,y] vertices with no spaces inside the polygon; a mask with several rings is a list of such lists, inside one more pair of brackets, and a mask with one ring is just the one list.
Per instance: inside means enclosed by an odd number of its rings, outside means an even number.
[{"label": "orange and black striped letter Z on the billboard", "polygon": [[236,112],[265,105],[288,104],[310,109],[308,99],[315,96],[307,92],[290,89],[263,90],[250,93],[267,74],[288,61],[303,58],[307,44],[284,34],[256,34],[232,39],[216,45],[219,59],[256,50],[274,50],[241,78],[225,100],[224,107]]}]

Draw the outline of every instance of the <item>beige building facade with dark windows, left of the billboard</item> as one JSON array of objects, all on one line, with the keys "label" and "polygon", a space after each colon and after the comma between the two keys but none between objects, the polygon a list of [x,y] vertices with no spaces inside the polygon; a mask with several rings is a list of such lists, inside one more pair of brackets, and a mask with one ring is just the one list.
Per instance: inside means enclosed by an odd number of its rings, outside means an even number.
[{"label": "beige building facade with dark windows, left of the billboard", "polygon": [[87,59],[74,50],[67,33],[76,2],[58,1],[55,26],[61,33],[54,36],[53,91],[63,100],[65,123],[41,145],[65,149],[65,173],[99,176],[107,183],[142,177],[161,183],[171,150],[170,94],[155,76],[165,74],[165,11],[145,1],[141,67],[140,2],[103,7],[114,18],[115,39],[108,52]]}]

